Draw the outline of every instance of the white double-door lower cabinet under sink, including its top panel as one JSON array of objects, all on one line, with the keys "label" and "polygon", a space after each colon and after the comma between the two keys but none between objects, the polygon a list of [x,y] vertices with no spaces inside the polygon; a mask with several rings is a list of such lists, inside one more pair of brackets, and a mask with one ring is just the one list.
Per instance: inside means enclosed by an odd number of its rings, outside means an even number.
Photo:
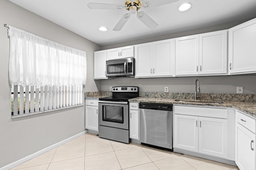
[{"label": "white double-door lower cabinet under sink, including its top panel", "polygon": [[[197,114],[202,115],[204,111],[214,113],[218,109],[184,106],[184,111],[182,111],[182,106],[179,107],[181,107],[181,112],[178,111],[178,113],[186,115],[176,114],[174,106],[174,148],[227,158],[227,119],[212,118],[214,115],[208,115],[211,117],[197,116]],[[191,108],[191,115],[186,113],[187,110],[190,110],[188,108]]]}]

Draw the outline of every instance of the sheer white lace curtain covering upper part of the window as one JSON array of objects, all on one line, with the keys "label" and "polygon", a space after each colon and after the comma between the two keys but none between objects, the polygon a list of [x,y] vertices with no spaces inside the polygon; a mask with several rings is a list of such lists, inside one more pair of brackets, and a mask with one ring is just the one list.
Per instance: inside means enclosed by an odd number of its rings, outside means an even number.
[{"label": "sheer white lace curtain covering upper part of the window", "polygon": [[9,78],[22,86],[81,86],[86,52],[10,26]]}]

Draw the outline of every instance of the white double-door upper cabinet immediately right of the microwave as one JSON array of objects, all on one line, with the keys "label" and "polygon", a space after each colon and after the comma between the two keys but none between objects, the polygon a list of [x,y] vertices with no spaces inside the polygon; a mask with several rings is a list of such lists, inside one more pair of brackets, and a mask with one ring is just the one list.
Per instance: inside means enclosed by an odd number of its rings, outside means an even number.
[{"label": "white double-door upper cabinet immediately right of the microwave", "polygon": [[172,76],[173,56],[173,39],[135,45],[135,78]]}]

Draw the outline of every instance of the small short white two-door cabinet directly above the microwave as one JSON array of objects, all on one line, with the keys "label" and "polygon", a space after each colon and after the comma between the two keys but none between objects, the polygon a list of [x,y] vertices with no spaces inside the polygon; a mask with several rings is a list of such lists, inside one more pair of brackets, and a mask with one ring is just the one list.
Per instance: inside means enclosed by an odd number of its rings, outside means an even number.
[{"label": "small short white two-door cabinet directly above the microwave", "polygon": [[107,60],[134,57],[134,46],[126,46],[107,50]]}]

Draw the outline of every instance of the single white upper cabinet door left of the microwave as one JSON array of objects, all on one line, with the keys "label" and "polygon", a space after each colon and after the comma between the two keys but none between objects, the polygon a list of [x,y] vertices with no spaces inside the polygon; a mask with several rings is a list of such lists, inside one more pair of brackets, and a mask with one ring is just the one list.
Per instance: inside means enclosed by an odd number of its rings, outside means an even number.
[{"label": "single white upper cabinet door left of the microwave", "polygon": [[94,79],[107,79],[106,54],[106,50],[94,52]]}]

